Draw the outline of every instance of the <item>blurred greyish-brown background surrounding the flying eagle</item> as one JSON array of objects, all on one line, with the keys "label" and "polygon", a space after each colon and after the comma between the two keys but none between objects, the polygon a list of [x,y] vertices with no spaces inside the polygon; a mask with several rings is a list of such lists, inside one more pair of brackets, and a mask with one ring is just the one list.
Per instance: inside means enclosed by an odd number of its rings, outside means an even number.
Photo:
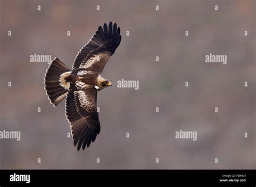
[{"label": "blurred greyish-brown background surrounding the flying eagle", "polygon": [[[0,130],[21,131],[20,141],[0,139],[1,169],[255,169],[255,1],[0,3]],[[98,94],[100,134],[77,152],[64,102],[53,107],[45,95],[48,64],[30,55],[71,67],[110,21],[122,34],[102,74],[113,87]],[[227,64],[206,63],[210,53]],[[122,78],[139,90],[117,88]],[[176,139],[179,130],[197,131],[197,141]]]}]

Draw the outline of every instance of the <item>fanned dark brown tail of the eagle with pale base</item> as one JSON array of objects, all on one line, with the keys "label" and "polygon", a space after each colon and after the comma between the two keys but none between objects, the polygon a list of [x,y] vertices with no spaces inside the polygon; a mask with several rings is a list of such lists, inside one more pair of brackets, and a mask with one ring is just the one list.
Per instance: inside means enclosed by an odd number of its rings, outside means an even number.
[{"label": "fanned dark brown tail of the eagle with pale base", "polygon": [[66,97],[70,84],[65,81],[65,77],[69,76],[70,73],[70,69],[57,57],[46,71],[45,90],[53,106],[57,106]]}]

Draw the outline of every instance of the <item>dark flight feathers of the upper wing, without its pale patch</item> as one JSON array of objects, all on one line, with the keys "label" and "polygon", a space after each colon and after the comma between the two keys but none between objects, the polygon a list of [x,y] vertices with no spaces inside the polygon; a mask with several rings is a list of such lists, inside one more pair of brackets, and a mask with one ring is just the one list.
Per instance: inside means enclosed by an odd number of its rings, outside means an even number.
[{"label": "dark flight feathers of the upper wing, without its pale patch", "polygon": [[[104,24],[103,28],[102,26],[99,26],[92,38],[78,52],[76,59],[73,62],[72,69],[84,68],[83,66],[86,64],[86,61],[94,55],[97,55],[99,52],[109,53],[110,56],[113,55],[116,48],[119,46],[121,39],[120,27],[117,28],[116,23],[112,25],[112,22],[110,22],[109,27],[107,27],[106,24]],[[100,49],[96,50],[97,48]],[[104,61],[104,66],[106,61]]]}]

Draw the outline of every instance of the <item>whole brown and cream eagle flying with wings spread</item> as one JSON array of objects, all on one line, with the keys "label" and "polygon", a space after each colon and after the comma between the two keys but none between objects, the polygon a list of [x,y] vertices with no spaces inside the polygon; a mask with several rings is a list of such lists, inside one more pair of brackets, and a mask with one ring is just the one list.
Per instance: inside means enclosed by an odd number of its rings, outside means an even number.
[{"label": "whole brown and cream eagle flying with wings spread", "polygon": [[100,74],[121,42],[120,27],[110,22],[99,26],[90,41],[80,49],[72,70],[57,57],[45,74],[45,90],[53,106],[64,98],[66,117],[70,123],[73,143],[79,151],[94,142],[100,132],[97,107],[99,90],[111,86]]}]

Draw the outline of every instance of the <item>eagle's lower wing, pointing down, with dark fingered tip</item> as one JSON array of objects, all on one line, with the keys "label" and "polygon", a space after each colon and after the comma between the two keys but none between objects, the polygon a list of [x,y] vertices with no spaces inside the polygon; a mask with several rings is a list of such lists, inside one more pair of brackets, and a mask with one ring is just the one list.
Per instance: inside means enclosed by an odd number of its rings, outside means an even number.
[{"label": "eagle's lower wing, pointing down, with dark fingered tip", "polygon": [[66,98],[66,116],[70,122],[77,150],[83,150],[94,142],[100,132],[98,112],[96,111],[97,89],[88,88],[69,92]]}]

